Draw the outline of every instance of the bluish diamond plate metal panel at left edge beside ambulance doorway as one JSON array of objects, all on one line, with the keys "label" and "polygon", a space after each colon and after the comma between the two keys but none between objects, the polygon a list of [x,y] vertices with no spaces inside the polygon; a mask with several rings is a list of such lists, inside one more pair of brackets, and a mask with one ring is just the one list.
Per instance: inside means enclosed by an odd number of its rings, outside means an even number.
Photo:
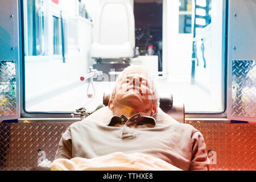
[{"label": "bluish diamond plate metal panel at left edge beside ambulance doorway", "polygon": [[14,60],[0,60],[0,116],[16,115],[16,71]]}]

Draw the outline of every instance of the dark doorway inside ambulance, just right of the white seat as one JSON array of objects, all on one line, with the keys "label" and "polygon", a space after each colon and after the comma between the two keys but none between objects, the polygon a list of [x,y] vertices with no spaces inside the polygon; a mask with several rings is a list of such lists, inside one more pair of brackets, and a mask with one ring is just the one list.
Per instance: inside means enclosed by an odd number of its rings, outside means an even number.
[{"label": "dark doorway inside ambulance, just right of the white seat", "polygon": [[158,56],[158,71],[162,72],[163,1],[134,0],[135,46],[140,55],[153,48]]}]

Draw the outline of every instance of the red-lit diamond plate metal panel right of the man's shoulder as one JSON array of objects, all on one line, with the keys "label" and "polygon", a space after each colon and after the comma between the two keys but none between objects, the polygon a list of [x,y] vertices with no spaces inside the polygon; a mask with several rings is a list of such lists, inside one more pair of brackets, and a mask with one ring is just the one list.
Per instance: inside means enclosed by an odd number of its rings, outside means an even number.
[{"label": "red-lit diamond plate metal panel right of the man's shoulder", "polygon": [[[207,146],[212,171],[256,170],[256,125],[190,123],[199,130]],[[214,151],[210,155],[210,151]],[[215,163],[213,164],[213,160]]]}]

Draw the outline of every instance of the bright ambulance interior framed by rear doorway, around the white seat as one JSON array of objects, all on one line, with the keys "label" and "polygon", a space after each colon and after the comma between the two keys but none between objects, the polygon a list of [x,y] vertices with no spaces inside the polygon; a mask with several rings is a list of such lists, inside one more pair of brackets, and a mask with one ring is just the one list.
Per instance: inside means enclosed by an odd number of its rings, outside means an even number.
[{"label": "bright ambulance interior framed by rear doorway, around the white seat", "polygon": [[[95,110],[102,104],[104,92],[112,90],[112,78],[115,80],[121,71],[119,66],[127,63],[127,60],[92,56],[93,28],[97,26],[96,12],[101,1],[24,2],[24,110],[27,113],[71,113],[81,107]],[[224,113],[225,2],[130,2],[137,53],[130,58],[130,64],[146,67],[154,77],[159,95],[172,94],[174,103],[184,104],[186,114]],[[115,5],[108,7],[113,9]],[[117,12],[122,13],[114,13]],[[111,17],[107,15],[104,18]],[[120,17],[125,16],[114,16],[117,20]],[[111,28],[104,22],[102,26]],[[126,26],[113,32],[123,27]],[[101,33],[110,35],[106,31]],[[111,41],[108,37],[104,40]],[[90,67],[108,74],[86,80]]]}]

